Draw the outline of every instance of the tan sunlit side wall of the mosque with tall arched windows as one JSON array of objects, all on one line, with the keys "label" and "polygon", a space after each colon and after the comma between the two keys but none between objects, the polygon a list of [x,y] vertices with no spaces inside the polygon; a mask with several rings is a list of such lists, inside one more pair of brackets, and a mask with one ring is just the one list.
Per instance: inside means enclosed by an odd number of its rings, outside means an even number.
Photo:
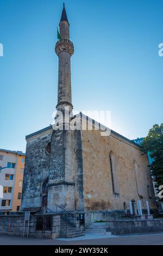
[{"label": "tan sunlit side wall of the mosque with tall arched windows", "polygon": [[[122,210],[124,201],[129,209],[129,201],[140,200],[137,193],[134,160],[137,163],[137,176],[142,207],[156,208],[148,158],[141,148],[114,134],[101,136],[98,130],[82,131],[83,175],[85,210]],[[113,192],[109,154],[114,155],[113,172],[117,174],[117,191]],[[150,194],[149,198],[148,188]],[[117,184],[116,186],[117,187]]]}]

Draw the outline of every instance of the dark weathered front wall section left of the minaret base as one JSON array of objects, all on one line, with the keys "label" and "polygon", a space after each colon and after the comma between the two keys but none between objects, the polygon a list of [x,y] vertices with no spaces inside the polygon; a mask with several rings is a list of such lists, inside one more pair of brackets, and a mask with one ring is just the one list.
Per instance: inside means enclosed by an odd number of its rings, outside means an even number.
[{"label": "dark weathered front wall section left of the minaret base", "polygon": [[50,154],[46,146],[52,131],[27,140],[21,209],[41,206],[41,188],[49,176]]}]

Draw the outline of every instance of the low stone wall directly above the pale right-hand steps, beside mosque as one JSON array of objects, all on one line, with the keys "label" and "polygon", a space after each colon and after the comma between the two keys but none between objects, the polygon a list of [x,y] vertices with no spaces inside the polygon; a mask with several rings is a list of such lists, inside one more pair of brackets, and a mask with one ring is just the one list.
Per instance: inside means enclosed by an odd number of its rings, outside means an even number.
[{"label": "low stone wall directly above the pale right-hand steps, beside mosque", "polygon": [[91,222],[106,222],[108,219],[121,219],[124,216],[125,212],[123,210],[85,211],[85,227]]}]

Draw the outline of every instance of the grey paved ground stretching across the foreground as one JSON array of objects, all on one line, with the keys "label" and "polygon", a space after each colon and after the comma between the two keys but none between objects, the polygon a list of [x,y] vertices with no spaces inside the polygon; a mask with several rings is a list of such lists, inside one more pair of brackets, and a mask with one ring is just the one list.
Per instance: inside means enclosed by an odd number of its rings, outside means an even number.
[{"label": "grey paved ground stretching across the foreground", "polygon": [[0,234],[0,245],[163,245],[163,234],[118,236],[76,241],[32,239]]}]

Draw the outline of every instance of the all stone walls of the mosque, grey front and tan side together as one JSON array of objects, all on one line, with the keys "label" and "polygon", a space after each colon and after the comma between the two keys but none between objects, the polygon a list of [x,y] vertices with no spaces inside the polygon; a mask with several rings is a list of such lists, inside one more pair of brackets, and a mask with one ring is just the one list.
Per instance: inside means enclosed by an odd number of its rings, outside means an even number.
[{"label": "all stone walls of the mosque, grey front and tan side together", "polygon": [[[112,188],[109,154],[114,160],[116,191]],[[141,148],[120,135],[101,136],[99,130],[54,131],[49,127],[27,138],[21,209],[41,207],[41,189],[47,177],[47,207],[52,211],[56,204],[68,211],[122,210],[124,201],[129,209],[129,201],[140,200],[139,195],[143,208],[147,200],[155,209],[147,165]]]}]

